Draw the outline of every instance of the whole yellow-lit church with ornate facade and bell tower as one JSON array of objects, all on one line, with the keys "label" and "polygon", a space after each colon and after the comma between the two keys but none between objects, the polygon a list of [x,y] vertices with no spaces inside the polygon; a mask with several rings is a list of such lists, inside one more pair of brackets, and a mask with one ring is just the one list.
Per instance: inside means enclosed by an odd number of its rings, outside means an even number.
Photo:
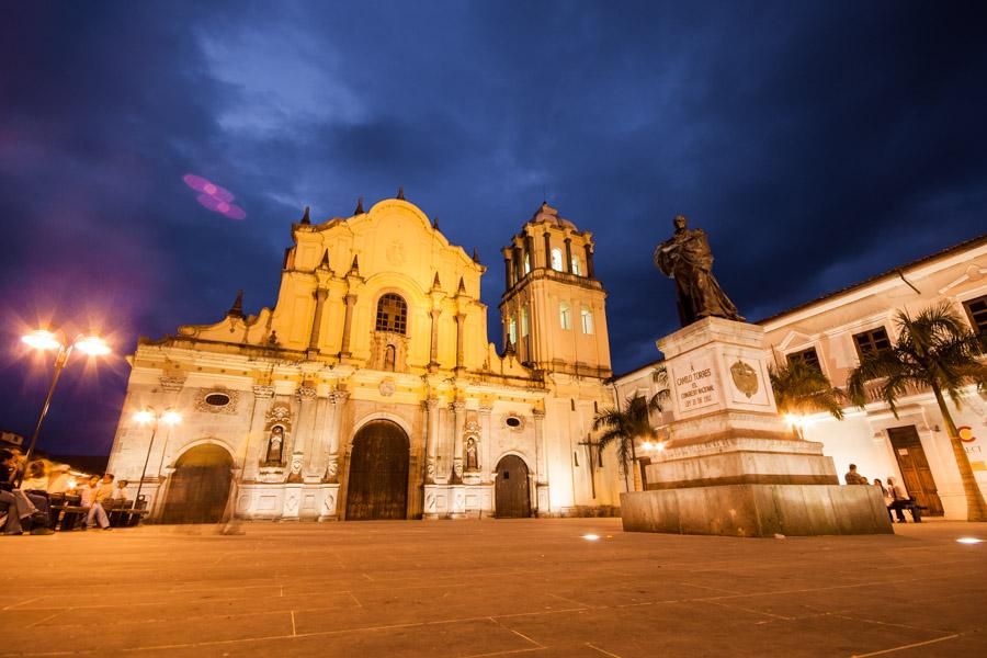
[{"label": "whole yellow-lit church with ornate facade and bell tower", "polygon": [[[605,292],[591,234],[543,204],[486,268],[402,198],[292,225],[273,308],[141,339],[109,469],[152,518],[359,520],[609,514],[619,465]],[[173,409],[157,430],[135,411]],[[132,484],[132,494],[136,484]]]}]

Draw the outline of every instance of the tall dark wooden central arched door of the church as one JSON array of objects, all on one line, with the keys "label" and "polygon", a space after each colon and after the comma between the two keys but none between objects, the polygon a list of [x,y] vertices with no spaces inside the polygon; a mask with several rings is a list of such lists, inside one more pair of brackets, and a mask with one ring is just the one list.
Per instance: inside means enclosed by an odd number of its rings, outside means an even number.
[{"label": "tall dark wooden central arched door of the church", "polygon": [[405,431],[388,420],[360,428],[350,455],[347,520],[407,518],[409,445]]}]

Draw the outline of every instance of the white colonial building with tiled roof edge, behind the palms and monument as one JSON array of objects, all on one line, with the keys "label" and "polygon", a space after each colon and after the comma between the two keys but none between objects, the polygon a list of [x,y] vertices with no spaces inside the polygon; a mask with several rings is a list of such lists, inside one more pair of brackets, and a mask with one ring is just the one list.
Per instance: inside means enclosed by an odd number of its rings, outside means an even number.
[{"label": "white colonial building with tiled roof edge, behind the palms and monument", "polygon": [[[776,363],[801,359],[818,364],[844,387],[860,354],[897,338],[894,316],[951,304],[976,331],[987,331],[987,236],[895,268],[856,285],[761,320]],[[660,361],[616,378],[616,395],[654,394],[651,373]],[[987,399],[969,387],[956,408],[949,402],[980,489],[987,495]],[[856,464],[869,479],[894,476],[929,508],[930,515],[966,518],[966,499],[942,416],[931,390],[900,400],[898,416],[876,398],[848,407],[838,421],[819,413],[806,419],[804,435],[824,444],[840,474]],[[655,418],[656,424],[661,420]],[[666,419],[667,421],[667,419]],[[674,439],[672,436],[672,439]],[[647,455],[646,455],[647,456]]]}]

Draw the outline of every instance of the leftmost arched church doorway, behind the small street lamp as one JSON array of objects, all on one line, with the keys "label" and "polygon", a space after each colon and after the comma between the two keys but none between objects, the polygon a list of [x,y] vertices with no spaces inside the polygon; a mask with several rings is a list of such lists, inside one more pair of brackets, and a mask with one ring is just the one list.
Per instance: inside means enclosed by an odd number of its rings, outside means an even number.
[{"label": "leftmost arched church doorway, behind the small street lamp", "polygon": [[229,453],[206,443],[185,452],[175,463],[161,523],[215,523],[223,518],[232,479]]}]

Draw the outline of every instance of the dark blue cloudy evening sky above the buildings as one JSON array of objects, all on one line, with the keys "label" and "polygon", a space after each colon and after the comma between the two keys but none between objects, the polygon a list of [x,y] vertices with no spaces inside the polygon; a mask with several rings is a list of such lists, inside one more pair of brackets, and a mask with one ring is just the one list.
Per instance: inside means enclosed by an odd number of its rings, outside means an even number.
[{"label": "dark blue cloudy evening sky above the buildings", "polygon": [[[683,213],[758,319],[984,231],[979,2],[11,2],[0,21],[0,427],[50,363],[18,337],[109,333],[41,445],[106,452],[138,336],[274,302],[304,205],[404,185],[479,248],[543,197],[597,239],[614,368],[677,327],[650,263]],[[207,177],[247,211],[198,206]],[[499,337],[491,336],[494,340]]]}]

